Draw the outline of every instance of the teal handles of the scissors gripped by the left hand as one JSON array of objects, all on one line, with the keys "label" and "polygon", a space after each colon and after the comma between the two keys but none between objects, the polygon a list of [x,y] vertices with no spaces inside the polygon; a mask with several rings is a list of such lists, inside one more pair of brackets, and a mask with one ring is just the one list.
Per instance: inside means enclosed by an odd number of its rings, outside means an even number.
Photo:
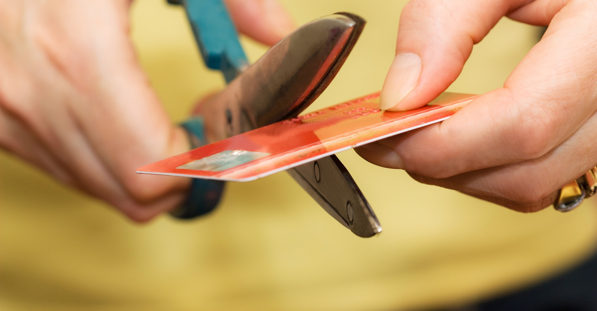
[{"label": "teal handles of the scissors gripped by the left hand", "polygon": [[[221,0],[167,1],[184,6],[205,66],[220,70],[226,83],[230,83],[248,66],[236,27]],[[192,148],[206,144],[201,116],[190,117],[181,126],[189,135]],[[193,178],[186,201],[170,214],[180,219],[207,214],[217,207],[223,191],[223,181]]]}]

